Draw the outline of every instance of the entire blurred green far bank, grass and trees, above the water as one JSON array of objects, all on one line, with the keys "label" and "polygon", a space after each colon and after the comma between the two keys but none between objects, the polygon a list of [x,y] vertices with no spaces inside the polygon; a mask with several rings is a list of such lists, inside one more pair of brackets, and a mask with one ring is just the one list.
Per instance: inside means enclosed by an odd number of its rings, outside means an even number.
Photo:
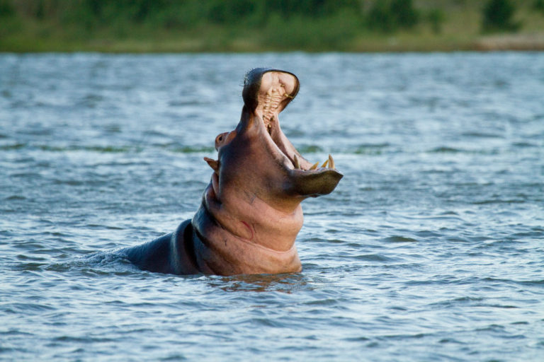
[{"label": "entire blurred green far bank, grass and trees, above the water", "polygon": [[[497,38],[515,30],[506,43]],[[544,0],[0,0],[0,51],[9,52],[447,51],[495,44],[544,49]]]}]

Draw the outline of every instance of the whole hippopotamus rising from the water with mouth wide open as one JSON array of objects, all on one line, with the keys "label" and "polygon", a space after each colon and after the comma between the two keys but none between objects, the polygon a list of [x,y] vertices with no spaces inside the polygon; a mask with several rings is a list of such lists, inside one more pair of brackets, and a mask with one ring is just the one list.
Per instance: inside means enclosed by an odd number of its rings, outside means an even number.
[{"label": "whole hippopotamus rising from the water with mouth wide open", "polygon": [[280,129],[297,76],[253,69],[244,78],[237,127],[215,137],[217,160],[202,203],[174,233],[123,250],[140,269],[165,274],[279,274],[302,270],[295,238],[307,197],[329,194],[343,177],[333,158],[310,163]]}]

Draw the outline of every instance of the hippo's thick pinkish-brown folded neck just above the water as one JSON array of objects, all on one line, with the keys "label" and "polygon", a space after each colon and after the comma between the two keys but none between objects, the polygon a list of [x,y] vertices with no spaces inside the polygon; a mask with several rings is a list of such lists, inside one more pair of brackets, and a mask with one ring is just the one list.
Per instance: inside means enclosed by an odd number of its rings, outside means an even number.
[{"label": "hippo's thick pinkish-brown folded neck just above the water", "polygon": [[300,205],[285,214],[256,197],[219,202],[210,183],[192,220],[199,267],[225,275],[300,271],[295,238],[302,218]]}]

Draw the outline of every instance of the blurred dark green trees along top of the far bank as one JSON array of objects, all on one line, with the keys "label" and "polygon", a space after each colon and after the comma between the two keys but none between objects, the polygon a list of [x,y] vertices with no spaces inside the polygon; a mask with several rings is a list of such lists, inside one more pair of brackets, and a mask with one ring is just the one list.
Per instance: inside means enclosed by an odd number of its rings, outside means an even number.
[{"label": "blurred dark green trees along top of the far bank", "polygon": [[[534,0],[534,8],[544,13],[544,0]],[[519,29],[515,11],[515,1],[485,1],[482,30]],[[349,13],[361,28],[381,33],[425,22],[439,32],[447,16],[439,7],[417,8],[412,0],[0,0],[0,18],[20,16],[88,30],[120,22],[180,30],[205,23],[258,28],[274,15],[327,18],[338,13]]]}]

